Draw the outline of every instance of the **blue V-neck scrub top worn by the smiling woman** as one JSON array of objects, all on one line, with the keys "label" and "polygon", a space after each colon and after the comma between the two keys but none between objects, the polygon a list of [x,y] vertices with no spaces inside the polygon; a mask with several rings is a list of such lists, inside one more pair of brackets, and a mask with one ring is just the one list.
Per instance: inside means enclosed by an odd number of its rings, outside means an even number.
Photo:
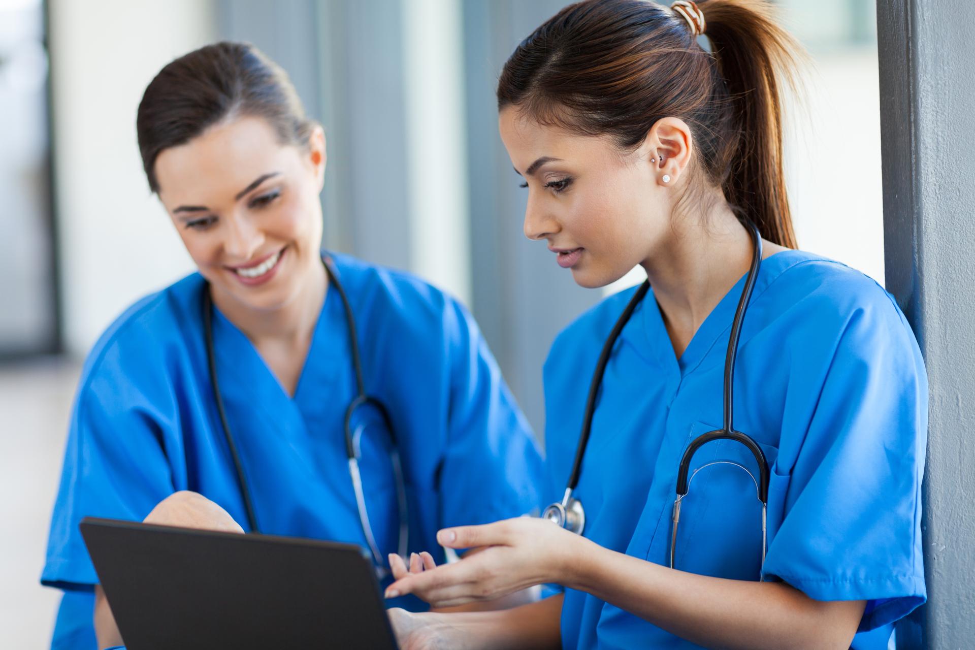
[{"label": "blue V-neck scrub top worn by the smiling woman", "polygon": [[[543,466],[535,440],[470,314],[407,274],[332,258],[355,316],[366,390],[385,404],[399,440],[409,550],[440,550],[435,535],[444,526],[537,511]],[[193,274],[140,300],[85,363],[41,578],[65,590],[56,648],[95,644],[98,578],[78,530],[83,516],[141,520],[186,489],[248,527],[207,369],[205,287]],[[218,311],[214,339],[261,532],[366,547],[345,454],[343,417],[356,387],[337,291],[328,291],[293,398]],[[370,521],[380,551],[395,553],[388,437],[369,431],[360,467]],[[389,604],[423,606],[412,596]]]}]

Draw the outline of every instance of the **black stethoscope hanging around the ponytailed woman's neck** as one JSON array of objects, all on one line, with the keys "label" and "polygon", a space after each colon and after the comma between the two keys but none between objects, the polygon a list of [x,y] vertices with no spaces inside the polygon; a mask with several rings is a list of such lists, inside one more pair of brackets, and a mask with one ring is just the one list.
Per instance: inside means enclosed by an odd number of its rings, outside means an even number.
[{"label": "black stethoscope hanging around the ponytailed woman's neck", "polygon": [[[759,501],[761,502],[761,562],[765,562],[765,517],[768,507],[768,462],[765,460],[765,454],[762,452],[761,447],[758,442],[752,440],[749,436],[735,431],[732,426],[732,388],[734,385],[734,363],[735,357],[738,353],[738,337],[741,334],[741,324],[745,320],[745,312],[748,309],[748,302],[752,297],[752,289],[755,288],[755,281],[759,275],[759,268],[761,266],[761,235],[759,229],[756,228],[755,224],[749,220],[745,220],[746,228],[749,234],[752,236],[754,242],[754,249],[752,252],[752,267],[749,269],[748,276],[745,279],[745,288],[741,292],[741,298],[738,300],[738,309],[734,315],[734,321],[731,323],[731,335],[728,337],[728,350],[727,355],[724,358],[724,427],[717,431],[710,431],[706,434],[698,436],[694,440],[690,441],[687,448],[683,452],[683,457],[681,458],[681,465],[678,469],[677,476],[677,498],[674,500],[674,516],[673,516],[673,529],[671,532],[671,543],[670,543],[670,567],[674,568],[674,552],[677,546],[677,527],[681,520],[681,501],[683,497],[686,496],[687,490],[690,487],[690,481],[693,480],[697,473],[706,467],[712,465],[733,465],[735,467],[744,470],[749,477],[755,481],[755,489],[759,496]],[[612,330],[609,332],[609,336],[603,345],[603,352],[600,353],[599,361],[596,363],[596,372],[593,373],[593,381],[589,386],[589,397],[586,399],[586,410],[582,416],[582,433],[579,435],[579,445],[575,450],[575,461],[572,463],[572,472],[568,476],[568,483],[565,485],[565,495],[561,502],[554,503],[545,509],[542,513],[542,517],[554,521],[563,528],[576,533],[582,534],[582,530],[586,525],[586,513],[582,508],[582,502],[578,499],[572,497],[572,492],[575,490],[575,486],[579,483],[579,474],[582,469],[582,459],[586,453],[586,445],[589,443],[589,434],[593,427],[593,414],[596,411],[596,400],[599,397],[600,385],[603,383],[603,374],[605,372],[606,363],[609,362],[609,356],[612,353],[612,348],[616,343],[616,339],[619,338],[619,334],[623,331],[623,327],[630,320],[633,315],[633,311],[637,308],[637,305],[643,300],[643,296],[646,295],[646,291],[649,289],[650,283],[646,281],[643,285],[637,289],[636,293],[630,299],[630,302],[626,305],[626,309],[620,315],[619,320],[616,321],[616,325],[613,325]],[[748,468],[745,466],[735,463],[729,460],[717,460],[711,463],[707,463],[697,468],[690,478],[687,477],[687,472],[690,468],[690,461],[694,457],[694,453],[701,448],[702,445],[712,440],[734,440],[740,442],[748,447],[748,450],[752,452],[755,456],[756,462],[759,464],[759,478],[756,479]]]}]

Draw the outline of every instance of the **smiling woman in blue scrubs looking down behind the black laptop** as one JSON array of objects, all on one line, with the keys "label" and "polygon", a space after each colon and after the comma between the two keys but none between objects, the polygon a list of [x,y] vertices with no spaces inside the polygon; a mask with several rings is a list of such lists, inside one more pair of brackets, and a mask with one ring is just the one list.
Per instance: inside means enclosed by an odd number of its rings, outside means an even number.
[{"label": "smiling woman in blue scrubs looking down behind the black laptop", "polygon": [[85,365],[42,577],[65,591],[55,647],[123,640],[83,516],[360,544],[388,584],[385,554],[538,508],[533,437],[466,310],[321,250],[325,134],[280,68],[236,43],[177,58],[137,129],[197,272],[133,305]]}]

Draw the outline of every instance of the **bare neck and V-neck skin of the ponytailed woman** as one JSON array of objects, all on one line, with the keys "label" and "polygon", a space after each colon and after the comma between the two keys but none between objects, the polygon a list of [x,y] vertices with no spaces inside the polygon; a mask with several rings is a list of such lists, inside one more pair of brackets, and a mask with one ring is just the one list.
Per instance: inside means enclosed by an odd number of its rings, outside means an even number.
[{"label": "bare neck and V-neck skin of the ponytailed woman", "polygon": [[723,198],[682,215],[643,269],[678,356],[722,297],[750,268],[752,237]]}]

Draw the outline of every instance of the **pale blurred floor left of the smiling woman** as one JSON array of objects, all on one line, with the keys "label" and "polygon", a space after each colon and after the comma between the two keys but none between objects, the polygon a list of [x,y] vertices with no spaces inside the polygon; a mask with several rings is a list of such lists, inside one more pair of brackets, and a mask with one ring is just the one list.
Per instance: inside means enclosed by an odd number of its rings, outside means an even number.
[{"label": "pale blurred floor left of the smiling woman", "polygon": [[0,648],[45,648],[59,592],[41,587],[79,363],[0,365]]}]

